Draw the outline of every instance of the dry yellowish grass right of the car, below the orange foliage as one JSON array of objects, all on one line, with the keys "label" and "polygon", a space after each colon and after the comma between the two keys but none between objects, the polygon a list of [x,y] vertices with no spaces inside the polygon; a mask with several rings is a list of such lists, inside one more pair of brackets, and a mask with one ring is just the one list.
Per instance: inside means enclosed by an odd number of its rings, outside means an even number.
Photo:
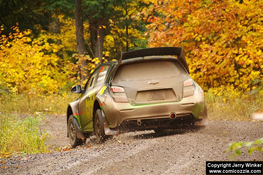
[{"label": "dry yellowish grass right of the car, below the orange foliage", "polygon": [[210,120],[249,121],[254,112],[263,112],[263,94],[258,90],[240,93],[209,89],[205,99]]}]

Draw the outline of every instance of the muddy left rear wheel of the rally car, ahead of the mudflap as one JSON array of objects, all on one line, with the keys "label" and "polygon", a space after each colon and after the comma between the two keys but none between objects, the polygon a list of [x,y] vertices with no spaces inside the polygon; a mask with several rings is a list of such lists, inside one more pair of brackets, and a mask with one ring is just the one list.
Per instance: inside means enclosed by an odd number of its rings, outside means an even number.
[{"label": "muddy left rear wheel of the rally car, ahead of the mudflap", "polygon": [[101,109],[97,109],[96,111],[94,119],[94,130],[97,143],[104,142],[105,140],[111,137],[111,135],[105,135]]}]

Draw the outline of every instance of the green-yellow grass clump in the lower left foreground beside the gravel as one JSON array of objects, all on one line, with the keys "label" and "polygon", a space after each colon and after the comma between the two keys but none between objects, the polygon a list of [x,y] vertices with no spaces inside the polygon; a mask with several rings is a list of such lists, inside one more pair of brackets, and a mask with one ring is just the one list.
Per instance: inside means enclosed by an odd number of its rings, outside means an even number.
[{"label": "green-yellow grass clump in the lower left foreground beside the gravel", "polygon": [[47,152],[45,141],[48,133],[40,133],[43,115],[18,115],[0,112],[0,156],[13,153]]}]

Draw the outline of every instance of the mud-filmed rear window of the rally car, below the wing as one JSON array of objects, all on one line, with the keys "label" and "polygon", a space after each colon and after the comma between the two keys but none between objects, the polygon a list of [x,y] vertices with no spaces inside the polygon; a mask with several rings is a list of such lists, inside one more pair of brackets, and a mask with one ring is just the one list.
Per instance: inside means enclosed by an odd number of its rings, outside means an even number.
[{"label": "mud-filmed rear window of the rally car, below the wing", "polygon": [[113,81],[136,81],[177,77],[187,72],[176,61],[151,60],[121,65]]}]

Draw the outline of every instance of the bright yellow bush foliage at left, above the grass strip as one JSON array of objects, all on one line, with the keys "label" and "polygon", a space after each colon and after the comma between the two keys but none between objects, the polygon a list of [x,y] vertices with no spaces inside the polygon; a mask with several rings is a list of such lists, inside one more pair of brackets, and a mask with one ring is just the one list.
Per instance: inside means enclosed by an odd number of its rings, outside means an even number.
[{"label": "bright yellow bush foliage at left, above the grass strip", "polygon": [[30,37],[25,37],[31,33],[30,30],[20,32],[17,26],[13,29],[16,32],[10,37],[0,36],[1,83],[13,93],[58,92],[58,88],[65,86],[71,75],[76,73],[72,63],[51,53],[58,52],[62,45],[48,43],[48,35],[31,41]]}]

